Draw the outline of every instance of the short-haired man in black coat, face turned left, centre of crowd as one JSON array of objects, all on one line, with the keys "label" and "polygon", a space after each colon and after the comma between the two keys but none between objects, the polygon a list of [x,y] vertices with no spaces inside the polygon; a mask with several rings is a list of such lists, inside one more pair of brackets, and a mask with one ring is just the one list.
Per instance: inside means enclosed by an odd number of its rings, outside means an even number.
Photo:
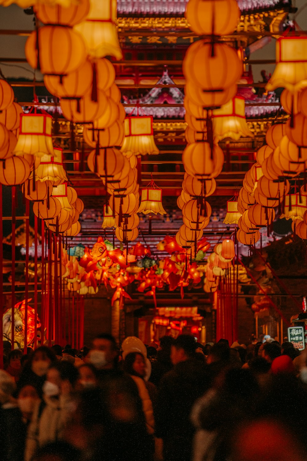
[{"label": "short-haired man in black coat, face turned left, centre of crowd", "polygon": [[196,342],[180,335],[171,347],[174,368],[160,381],[156,412],[156,437],[163,439],[164,461],[190,461],[194,402],[208,390],[206,364],[196,360]]}]

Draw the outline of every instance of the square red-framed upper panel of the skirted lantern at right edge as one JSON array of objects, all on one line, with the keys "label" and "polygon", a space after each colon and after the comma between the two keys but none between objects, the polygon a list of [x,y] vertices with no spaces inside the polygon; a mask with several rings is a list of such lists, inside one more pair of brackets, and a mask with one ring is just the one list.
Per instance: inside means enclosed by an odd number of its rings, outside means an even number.
[{"label": "square red-framed upper panel of the skirted lantern at right edge", "polygon": [[307,37],[280,37],[276,43],[276,62],[307,61]]}]

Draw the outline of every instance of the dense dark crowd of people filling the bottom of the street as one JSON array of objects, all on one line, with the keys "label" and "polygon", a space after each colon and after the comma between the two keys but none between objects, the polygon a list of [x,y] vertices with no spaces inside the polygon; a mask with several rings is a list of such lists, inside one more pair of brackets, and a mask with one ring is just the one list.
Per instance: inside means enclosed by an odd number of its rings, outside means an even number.
[{"label": "dense dark crowd of people filling the bottom of the street", "polygon": [[307,459],[305,351],[190,335],[132,349],[108,334],[82,351],[4,342],[0,459]]}]

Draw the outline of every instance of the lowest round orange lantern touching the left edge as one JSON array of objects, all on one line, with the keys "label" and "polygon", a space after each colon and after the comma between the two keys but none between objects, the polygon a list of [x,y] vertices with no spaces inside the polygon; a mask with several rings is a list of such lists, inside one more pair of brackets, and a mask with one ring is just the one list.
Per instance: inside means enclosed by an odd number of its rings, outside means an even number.
[{"label": "lowest round orange lantern touching the left edge", "polygon": [[27,160],[20,157],[10,157],[4,162],[0,162],[0,183],[5,186],[15,186],[22,184],[28,179],[30,165]]}]

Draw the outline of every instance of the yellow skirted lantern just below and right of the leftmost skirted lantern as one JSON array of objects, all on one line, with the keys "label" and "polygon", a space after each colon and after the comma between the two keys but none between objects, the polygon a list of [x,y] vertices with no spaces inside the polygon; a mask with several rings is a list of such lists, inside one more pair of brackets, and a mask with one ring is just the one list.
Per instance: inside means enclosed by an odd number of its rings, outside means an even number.
[{"label": "yellow skirted lantern just below and right of the leftmost skirted lantern", "polygon": [[50,160],[49,155],[44,155],[40,160],[40,164],[35,169],[37,181],[51,181],[54,186],[68,181],[63,168],[63,149],[53,148],[53,156]]}]

